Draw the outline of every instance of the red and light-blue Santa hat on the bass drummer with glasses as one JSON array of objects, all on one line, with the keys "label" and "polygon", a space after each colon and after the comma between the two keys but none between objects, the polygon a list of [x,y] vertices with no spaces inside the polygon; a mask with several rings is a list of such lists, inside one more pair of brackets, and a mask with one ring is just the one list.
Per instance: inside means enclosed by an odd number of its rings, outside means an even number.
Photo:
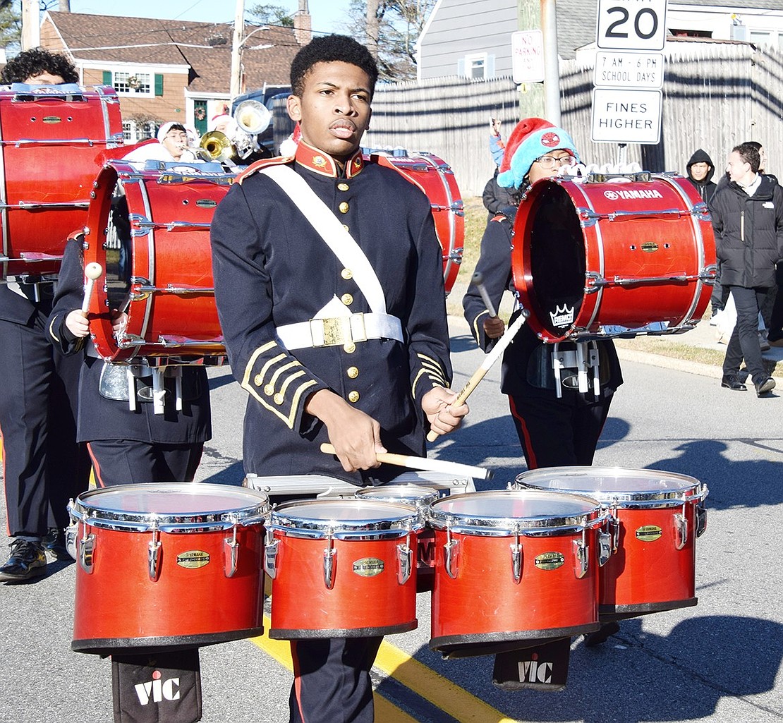
[{"label": "red and light-blue Santa hat on the bass drummer with glasses", "polygon": [[524,118],[519,121],[511,131],[511,136],[508,136],[497,176],[498,185],[519,188],[536,158],[557,149],[570,150],[579,160],[571,136],[562,128],[557,128],[543,118]]}]

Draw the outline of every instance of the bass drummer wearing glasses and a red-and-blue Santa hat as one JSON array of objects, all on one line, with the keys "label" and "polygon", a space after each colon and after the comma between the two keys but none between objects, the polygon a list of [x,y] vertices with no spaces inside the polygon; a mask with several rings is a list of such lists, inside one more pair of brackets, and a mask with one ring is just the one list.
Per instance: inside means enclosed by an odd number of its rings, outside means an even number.
[{"label": "bass drummer wearing glasses and a red-and-blue Santa hat", "polygon": [[[525,208],[525,191],[533,183],[560,174],[564,166],[575,164],[579,154],[568,133],[543,118],[525,118],[514,128],[503,153],[498,183],[518,193],[517,204],[504,208],[486,226],[476,273],[481,274],[485,290],[495,309],[503,291],[516,295],[511,273],[511,244],[514,219]],[[543,229],[545,243],[550,248],[547,269],[540,269],[550,279],[561,280],[563,287],[583,287],[584,278],[568,275],[579,273],[579,263],[568,263],[579,251],[572,237],[562,228],[566,209],[556,204],[542,207],[546,218]],[[581,263],[584,266],[584,262]],[[575,271],[576,269],[576,271]],[[583,273],[583,272],[582,272]],[[476,285],[468,288],[463,298],[464,314],[478,345],[489,352],[503,334],[505,324],[499,316],[490,316]],[[511,316],[512,323],[521,313],[518,305]],[[573,348],[561,343],[561,351]],[[523,325],[503,354],[501,391],[508,395],[511,417],[519,436],[522,452],[529,469],[559,466],[589,466],[609,414],[612,395],[622,384],[622,373],[615,346],[611,340],[597,342],[600,393],[580,392],[568,383],[573,376],[564,374],[560,394],[555,388],[553,345],[544,344],[532,329]],[[576,374],[576,371],[574,371]],[[586,638],[588,645],[597,645],[617,631],[612,623]]]}]

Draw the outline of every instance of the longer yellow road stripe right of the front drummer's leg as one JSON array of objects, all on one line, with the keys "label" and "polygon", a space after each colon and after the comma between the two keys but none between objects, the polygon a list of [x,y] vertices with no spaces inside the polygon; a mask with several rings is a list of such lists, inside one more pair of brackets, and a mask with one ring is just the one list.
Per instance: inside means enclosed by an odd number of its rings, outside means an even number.
[{"label": "longer yellow road stripe right of the front drummer's leg", "polygon": [[384,640],[375,667],[460,723],[516,723],[464,688]]}]

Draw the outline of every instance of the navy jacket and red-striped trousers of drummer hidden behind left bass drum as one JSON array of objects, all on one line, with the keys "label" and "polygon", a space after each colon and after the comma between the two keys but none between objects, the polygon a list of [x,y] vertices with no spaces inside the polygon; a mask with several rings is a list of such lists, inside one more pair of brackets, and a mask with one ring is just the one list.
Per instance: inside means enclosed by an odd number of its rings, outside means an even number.
[{"label": "navy jacket and red-striped trousers of drummer hidden behind left bass drum", "polygon": [[[157,372],[133,363],[104,363],[89,338],[76,338],[66,327],[67,315],[81,308],[83,298],[81,247],[71,239],[46,331],[61,352],[83,356],[77,434],[88,443],[99,486],[191,482],[204,442],[211,439],[207,372],[202,366],[168,367],[162,414],[156,414],[151,374]],[[178,393],[182,410],[176,409]]]}]

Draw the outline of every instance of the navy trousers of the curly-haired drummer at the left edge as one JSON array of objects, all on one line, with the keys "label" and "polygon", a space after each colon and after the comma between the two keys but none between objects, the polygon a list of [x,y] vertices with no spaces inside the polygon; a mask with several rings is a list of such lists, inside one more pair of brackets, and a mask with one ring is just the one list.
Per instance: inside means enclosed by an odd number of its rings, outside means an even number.
[{"label": "navy trousers of the curly-haired drummer at the left edge", "polygon": [[89,483],[89,458],[76,442],[80,363],[45,337],[49,303],[0,285],[0,430],[11,537],[63,529],[68,500]]}]

